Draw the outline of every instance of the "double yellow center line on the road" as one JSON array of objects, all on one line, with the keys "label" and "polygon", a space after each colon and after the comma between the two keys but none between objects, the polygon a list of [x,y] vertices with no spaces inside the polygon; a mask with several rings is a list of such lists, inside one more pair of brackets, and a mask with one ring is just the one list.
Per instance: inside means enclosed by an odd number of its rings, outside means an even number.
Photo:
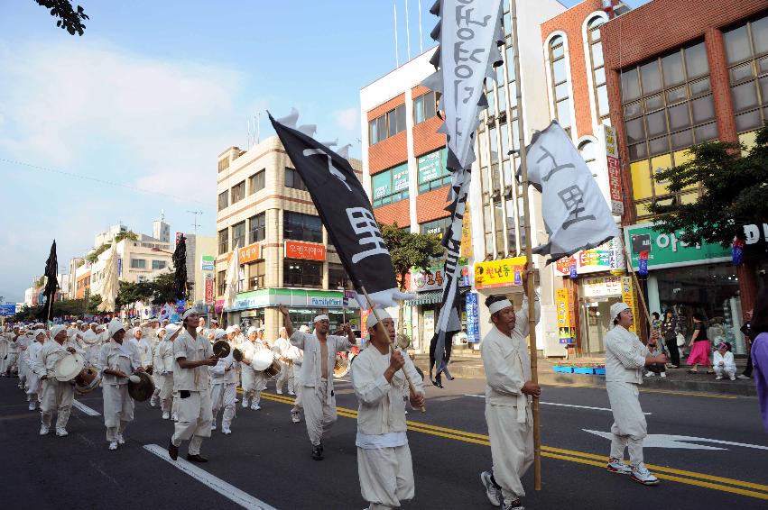
[{"label": "double yellow center line on the road", "polygon": [[[240,390],[238,390],[240,391]],[[262,398],[267,400],[273,400],[274,402],[280,402],[282,404],[293,404],[293,398],[289,396],[275,395],[272,393],[262,393]],[[357,411],[355,409],[348,409],[346,407],[337,407],[337,413],[346,418],[357,418]],[[430,423],[420,423],[406,421],[408,430],[418,433],[426,433],[445,439],[452,439],[461,442],[469,442],[473,444],[479,444],[481,446],[490,446],[490,438],[485,434],[468,433],[465,431],[459,431],[456,429],[449,429],[447,427],[440,427],[438,425],[432,425]],[[605,468],[606,456],[597,455],[594,453],[588,453],[585,451],[573,451],[565,450],[561,448],[553,448],[551,446],[541,446],[541,456],[551,459],[569,460],[571,462],[578,462],[580,464],[587,464],[590,466],[597,466]],[[668,468],[666,466],[658,466],[654,464],[646,464],[649,469],[653,469],[657,472],[658,478],[667,479],[683,484],[694,485],[698,487],[707,487],[714,490],[720,490],[723,492],[730,492],[741,496],[757,497],[760,499],[768,499],[768,485],[758,484],[754,482],[747,482],[745,480],[738,480],[735,478],[723,478],[715,475],[708,475],[706,473],[697,473],[695,471],[687,471],[684,469]],[[680,476],[675,476],[680,475]],[[682,478],[685,477],[685,478]],[[736,487],[727,487],[721,484],[728,484]],[[747,490],[748,487],[756,489]]]}]

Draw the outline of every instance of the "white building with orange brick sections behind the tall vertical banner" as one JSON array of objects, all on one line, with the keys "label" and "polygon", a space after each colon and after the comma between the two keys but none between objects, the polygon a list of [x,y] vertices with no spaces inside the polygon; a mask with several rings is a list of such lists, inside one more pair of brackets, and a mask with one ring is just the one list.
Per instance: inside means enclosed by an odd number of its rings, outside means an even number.
[{"label": "white building with orange brick sections behind the tall vertical banner", "polygon": [[[518,2],[518,35],[520,41],[521,75],[514,73],[514,48],[511,36],[510,3],[504,1],[506,41],[502,49],[504,65],[496,68],[496,83],[487,90],[490,107],[481,113],[477,132],[477,161],[472,168],[469,194],[471,235],[464,242],[467,258],[462,301],[466,305],[482,301],[488,294],[508,294],[518,304],[522,290],[515,285],[514,271],[509,277],[498,278],[493,287],[477,286],[471,275],[490,266],[519,264],[513,260],[523,253],[521,218],[523,190],[513,178],[518,159],[510,150],[518,149],[519,123],[522,110],[526,139],[533,130],[545,128],[551,120],[547,95],[547,75],[541,52],[541,23],[565,11],[554,0]],[[446,168],[445,137],[436,131],[440,119],[436,116],[435,94],[421,87],[423,78],[433,71],[429,64],[433,50],[394,69],[360,91],[363,114],[362,130],[364,187],[368,190],[376,218],[382,223],[397,222],[412,232],[441,233],[449,221],[449,171]],[[523,108],[516,105],[517,87],[523,92]],[[533,244],[543,243],[541,200],[531,194]],[[558,340],[553,307],[554,288],[551,270],[545,269],[537,258],[540,270],[542,321],[537,329],[537,347],[545,353],[560,354],[564,349]],[[419,296],[405,309],[403,327],[412,334],[416,349],[425,351],[440,313],[441,296],[437,281],[416,275],[414,290]],[[470,287],[471,286],[471,287]],[[515,288],[517,287],[517,288]],[[473,296],[474,295],[474,296]],[[477,341],[488,329],[484,306],[467,306],[470,317],[480,326]],[[477,347],[477,342],[476,347]]]}]

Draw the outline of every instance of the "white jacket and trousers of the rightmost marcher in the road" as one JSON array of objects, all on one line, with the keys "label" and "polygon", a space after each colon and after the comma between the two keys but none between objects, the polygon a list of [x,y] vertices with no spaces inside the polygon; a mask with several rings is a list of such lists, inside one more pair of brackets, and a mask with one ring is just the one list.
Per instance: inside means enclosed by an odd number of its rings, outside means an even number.
[{"label": "white jacket and trousers of the rightmost marcher in the road", "polygon": [[643,438],[648,434],[638,387],[643,384],[645,357],[650,355],[634,332],[619,325],[607,332],[606,390],[614,413],[611,457],[623,460],[628,449],[633,467],[643,462]]}]

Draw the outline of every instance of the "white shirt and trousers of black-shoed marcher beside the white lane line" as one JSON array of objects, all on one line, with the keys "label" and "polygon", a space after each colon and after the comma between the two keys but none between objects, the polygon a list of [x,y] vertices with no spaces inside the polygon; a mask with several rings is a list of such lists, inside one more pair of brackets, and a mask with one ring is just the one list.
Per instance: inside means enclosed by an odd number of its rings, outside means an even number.
[{"label": "white shirt and trousers of black-shoed marcher beside the white lane line", "polygon": [[180,332],[173,341],[173,390],[178,394],[176,412],[179,421],[174,426],[171,442],[179,446],[190,440],[190,455],[199,455],[203,438],[210,437],[212,412],[210,405],[210,377],[208,367],[182,369],[179,360],[206,360],[213,356],[213,347],[207,338],[190,332]]}]

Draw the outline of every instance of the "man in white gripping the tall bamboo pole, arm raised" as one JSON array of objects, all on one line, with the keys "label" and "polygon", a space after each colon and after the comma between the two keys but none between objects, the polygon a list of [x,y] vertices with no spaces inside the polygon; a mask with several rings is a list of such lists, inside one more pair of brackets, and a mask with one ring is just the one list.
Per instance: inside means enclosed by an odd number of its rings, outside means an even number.
[{"label": "man in white gripping the tall bamboo pole, arm raised", "polygon": [[[523,273],[523,288],[527,278]],[[539,297],[534,298],[539,322]],[[488,296],[486,306],[494,324],[480,343],[486,370],[486,423],[491,441],[493,469],[480,481],[492,505],[504,510],[522,509],[525,496],[521,478],[533,463],[532,396],[541,387],[531,380],[531,358],[525,338],[529,332],[528,296],[517,313],[506,296]]]}]

